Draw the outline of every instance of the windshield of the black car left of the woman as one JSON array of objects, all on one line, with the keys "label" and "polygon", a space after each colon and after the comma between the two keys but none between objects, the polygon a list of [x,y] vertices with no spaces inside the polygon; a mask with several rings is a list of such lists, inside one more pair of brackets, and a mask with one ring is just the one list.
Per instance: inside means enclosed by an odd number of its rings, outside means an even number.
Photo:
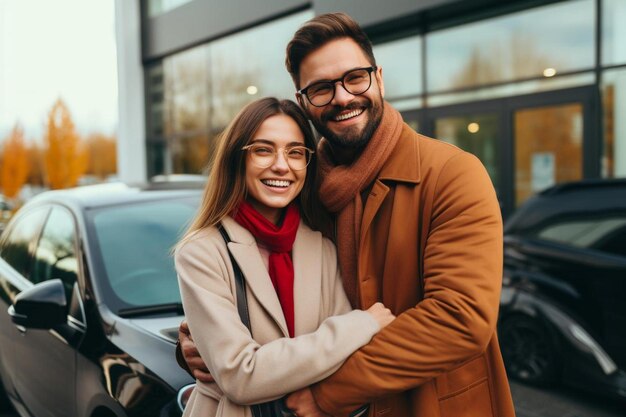
[{"label": "windshield of the black car left of the woman", "polygon": [[122,308],[178,304],[171,251],[193,217],[198,198],[112,206],[94,212],[99,286]]}]

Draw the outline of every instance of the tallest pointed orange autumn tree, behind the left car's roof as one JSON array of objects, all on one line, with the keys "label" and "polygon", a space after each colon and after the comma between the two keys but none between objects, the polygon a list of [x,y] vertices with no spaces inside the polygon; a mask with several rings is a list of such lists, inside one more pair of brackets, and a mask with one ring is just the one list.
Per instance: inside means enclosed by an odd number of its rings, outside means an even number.
[{"label": "tallest pointed orange autumn tree, behind the left car's roof", "polygon": [[78,183],[87,169],[87,152],[76,133],[70,111],[60,98],[48,114],[44,162],[50,188],[68,188]]}]

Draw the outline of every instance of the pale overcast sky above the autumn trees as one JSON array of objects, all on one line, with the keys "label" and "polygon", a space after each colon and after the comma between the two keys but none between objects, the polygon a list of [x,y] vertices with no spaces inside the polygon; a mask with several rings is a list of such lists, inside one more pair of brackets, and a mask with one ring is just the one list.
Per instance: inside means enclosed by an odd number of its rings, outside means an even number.
[{"label": "pale overcast sky above the autumn trees", "polygon": [[79,133],[115,134],[113,0],[0,0],[0,140],[16,121],[41,140],[58,97]]}]

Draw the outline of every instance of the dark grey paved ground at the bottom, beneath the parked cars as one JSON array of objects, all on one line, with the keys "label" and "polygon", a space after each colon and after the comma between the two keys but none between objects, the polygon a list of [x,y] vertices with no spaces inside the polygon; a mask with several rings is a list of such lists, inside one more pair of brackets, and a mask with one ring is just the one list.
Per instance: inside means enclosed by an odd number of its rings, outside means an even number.
[{"label": "dark grey paved ground at the bottom, beneath the parked cars", "polygon": [[[511,382],[517,417],[626,417],[626,402],[570,389],[539,390]],[[0,413],[0,417],[17,417],[15,413]]]}]

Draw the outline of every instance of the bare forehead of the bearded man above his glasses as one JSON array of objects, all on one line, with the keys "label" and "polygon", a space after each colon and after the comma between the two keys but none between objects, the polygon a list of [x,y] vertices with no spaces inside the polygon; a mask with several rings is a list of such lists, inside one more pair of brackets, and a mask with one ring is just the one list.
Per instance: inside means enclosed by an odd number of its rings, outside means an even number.
[{"label": "bare forehead of the bearded man above his glasses", "polygon": [[367,56],[351,38],[332,40],[308,54],[300,64],[302,86],[335,79],[346,71],[370,65]]}]

